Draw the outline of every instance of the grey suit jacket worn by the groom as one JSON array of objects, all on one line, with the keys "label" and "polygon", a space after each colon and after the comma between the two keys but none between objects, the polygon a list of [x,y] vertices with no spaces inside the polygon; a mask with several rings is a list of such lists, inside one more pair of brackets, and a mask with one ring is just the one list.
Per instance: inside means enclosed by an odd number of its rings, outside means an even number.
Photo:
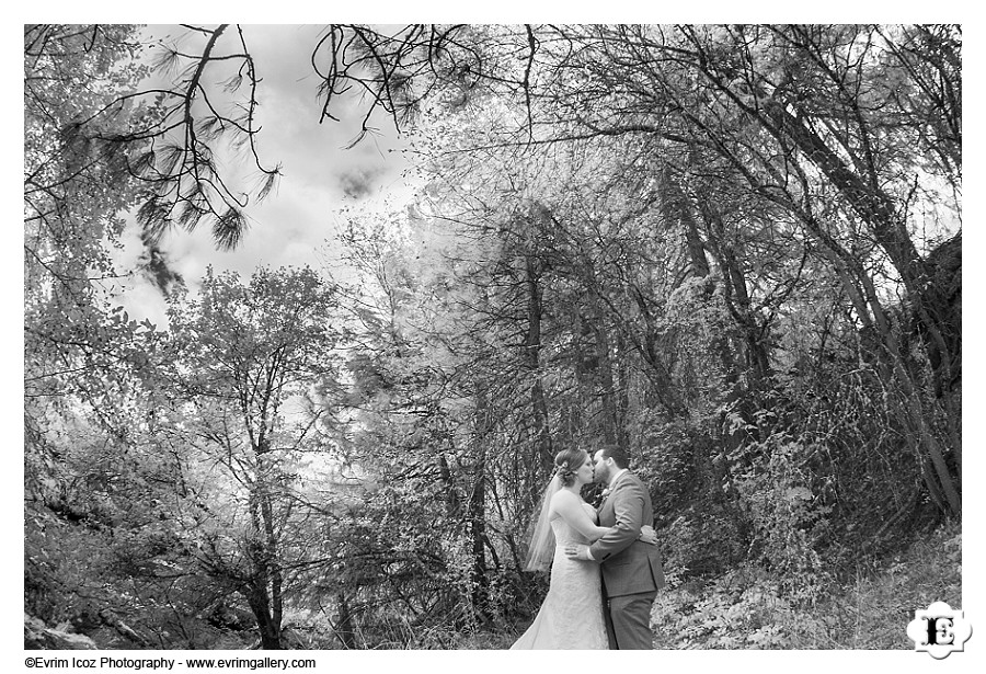
[{"label": "grey suit jacket worn by the groom", "polygon": [[606,595],[618,597],[664,587],[657,546],[638,540],[641,526],[654,526],[654,509],[643,482],[633,473],[624,472],[617,478],[597,512],[599,526],[615,527],[589,546],[593,558],[603,564]]}]

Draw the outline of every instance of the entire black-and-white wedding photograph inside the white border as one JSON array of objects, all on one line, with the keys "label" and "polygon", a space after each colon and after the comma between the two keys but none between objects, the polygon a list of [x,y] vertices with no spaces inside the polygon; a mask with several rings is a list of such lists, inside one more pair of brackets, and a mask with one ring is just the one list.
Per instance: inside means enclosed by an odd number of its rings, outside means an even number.
[{"label": "entire black-and-white wedding photograph inside the white border", "polygon": [[962,24],[23,33],[35,667],[975,650]]}]

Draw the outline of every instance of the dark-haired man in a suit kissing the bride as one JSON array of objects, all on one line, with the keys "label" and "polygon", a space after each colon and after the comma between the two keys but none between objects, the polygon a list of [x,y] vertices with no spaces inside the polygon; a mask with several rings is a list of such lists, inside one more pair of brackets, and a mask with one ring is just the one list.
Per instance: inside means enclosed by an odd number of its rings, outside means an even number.
[{"label": "dark-haired man in a suit kissing the bride", "polygon": [[603,566],[603,594],[610,650],[654,648],[651,605],[664,587],[656,546],[638,540],[640,527],[653,526],[651,496],[640,479],[627,470],[627,454],[612,446],[593,457],[595,481],[608,484],[599,505],[599,526],[615,527],[592,546],[570,544],[572,559]]}]

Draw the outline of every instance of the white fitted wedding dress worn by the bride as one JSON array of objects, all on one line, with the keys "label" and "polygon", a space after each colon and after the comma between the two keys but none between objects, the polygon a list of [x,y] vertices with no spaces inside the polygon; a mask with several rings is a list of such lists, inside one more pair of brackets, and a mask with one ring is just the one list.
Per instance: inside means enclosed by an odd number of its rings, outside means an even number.
[{"label": "white fitted wedding dress worn by the bride", "polygon": [[[593,522],[596,511],[583,504]],[[603,579],[599,564],[565,557],[567,542],[588,544],[560,516],[551,521],[554,559],[551,584],[538,617],[511,650],[608,649],[603,618]]]}]

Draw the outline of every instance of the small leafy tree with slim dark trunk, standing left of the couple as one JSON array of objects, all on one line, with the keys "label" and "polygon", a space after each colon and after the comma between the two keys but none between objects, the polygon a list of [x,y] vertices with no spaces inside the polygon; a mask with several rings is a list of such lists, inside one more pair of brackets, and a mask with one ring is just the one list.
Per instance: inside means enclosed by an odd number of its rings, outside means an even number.
[{"label": "small leafy tree with slim dark trunk, standing left of the couple", "polygon": [[161,433],[187,443],[185,536],[200,572],[244,597],[265,649],[283,648],[285,601],[313,555],[300,473],[318,470],[331,415],[314,387],[337,386],[336,310],[308,267],[261,269],[249,284],[210,269],[200,296],[169,310],[175,366]]}]

